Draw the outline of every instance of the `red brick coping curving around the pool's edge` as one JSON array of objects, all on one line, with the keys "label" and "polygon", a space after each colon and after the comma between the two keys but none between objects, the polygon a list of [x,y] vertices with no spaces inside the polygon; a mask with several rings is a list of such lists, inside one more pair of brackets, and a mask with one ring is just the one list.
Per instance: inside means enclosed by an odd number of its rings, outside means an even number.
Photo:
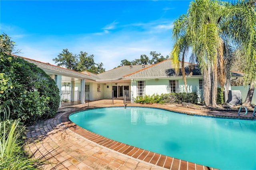
[{"label": "red brick coping curving around the pool's edge", "polygon": [[[69,115],[81,112],[88,109],[97,109],[97,108],[106,108],[106,107],[124,107],[123,105],[114,105],[114,106],[97,106],[97,107],[90,107],[90,108],[81,108],[76,111],[68,112],[60,117],[60,121],[66,128],[72,130],[74,133],[96,143],[103,147],[106,147],[110,150],[114,150],[121,154],[125,154],[131,158],[135,158],[138,160],[142,160],[144,162],[148,162],[150,164],[154,164],[156,166],[166,168],[166,169],[212,169],[217,170],[216,168],[211,168],[208,166],[188,162],[185,160],[180,160],[177,158],[173,158],[170,156],[165,156],[162,154],[158,154],[155,152],[151,152],[148,150],[144,150],[141,148],[137,148],[135,146],[130,146],[124,144],[122,142],[117,142],[115,140],[111,140],[94,132],[90,132],[78,125],[74,124],[72,121],[69,120]],[[249,115],[244,116],[237,116],[235,113],[233,115],[223,115],[223,111],[202,111],[202,110],[194,110],[190,108],[184,107],[170,107],[168,105],[138,105],[138,104],[130,104],[127,107],[147,107],[147,108],[156,108],[156,109],[164,109],[172,112],[177,112],[186,115],[195,115],[201,117],[212,117],[212,118],[221,118],[221,119],[244,119],[244,120],[252,120],[255,121],[256,117],[250,117]]]}]

